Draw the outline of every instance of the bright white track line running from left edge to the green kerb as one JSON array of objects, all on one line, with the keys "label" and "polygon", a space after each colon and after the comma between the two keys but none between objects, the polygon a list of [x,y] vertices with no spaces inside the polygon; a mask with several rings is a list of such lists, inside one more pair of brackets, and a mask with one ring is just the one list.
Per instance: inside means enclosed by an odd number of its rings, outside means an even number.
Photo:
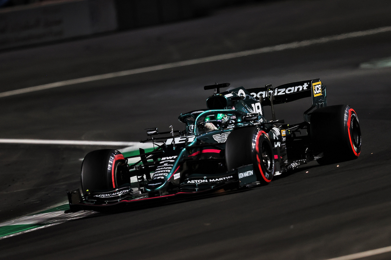
[{"label": "bright white track line running from left edge to the green kerb", "polygon": [[102,146],[140,146],[139,142],[42,140],[42,139],[0,139],[0,143],[3,143],[3,144],[66,144],[66,145],[102,145]]}]

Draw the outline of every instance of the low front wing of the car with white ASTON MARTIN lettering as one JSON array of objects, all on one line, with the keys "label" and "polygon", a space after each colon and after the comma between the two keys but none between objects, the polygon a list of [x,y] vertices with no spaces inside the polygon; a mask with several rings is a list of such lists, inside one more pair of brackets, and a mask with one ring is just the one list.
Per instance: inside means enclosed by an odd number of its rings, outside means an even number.
[{"label": "low front wing of the car with white ASTON MARTIN lettering", "polygon": [[[208,178],[187,178],[182,183],[182,189],[173,194],[149,197],[148,193],[138,187],[129,185],[111,189],[108,191],[97,191],[92,194],[83,195],[80,189],[68,191],[70,212],[79,210],[113,211],[161,205],[180,200],[188,200],[213,194],[222,189],[240,189],[259,185],[253,173],[253,166],[239,167],[235,171],[213,177],[214,182],[208,182]],[[209,178],[210,179],[210,178]],[[206,180],[206,181],[205,181]]]}]

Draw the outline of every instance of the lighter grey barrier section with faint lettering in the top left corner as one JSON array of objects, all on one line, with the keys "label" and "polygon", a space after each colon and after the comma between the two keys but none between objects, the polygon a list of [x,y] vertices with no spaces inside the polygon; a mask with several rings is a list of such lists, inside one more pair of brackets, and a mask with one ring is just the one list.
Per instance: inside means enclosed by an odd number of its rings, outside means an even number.
[{"label": "lighter grey barrier section with faint lettering in the top left corner", "polygon": [[78,0],[0,9],[0,49],[117,30],[115,2]]}]

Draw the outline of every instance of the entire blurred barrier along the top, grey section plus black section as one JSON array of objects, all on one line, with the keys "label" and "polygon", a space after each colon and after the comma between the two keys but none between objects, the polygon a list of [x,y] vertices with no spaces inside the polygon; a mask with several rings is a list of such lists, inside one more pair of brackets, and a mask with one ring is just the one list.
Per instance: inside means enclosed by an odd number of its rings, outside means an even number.
[{"label": "entire blurred barrier along the top, grey section plus black section", "polygon": [[0,50],[169,23],[251,0],[62,0],[0,9]]}]

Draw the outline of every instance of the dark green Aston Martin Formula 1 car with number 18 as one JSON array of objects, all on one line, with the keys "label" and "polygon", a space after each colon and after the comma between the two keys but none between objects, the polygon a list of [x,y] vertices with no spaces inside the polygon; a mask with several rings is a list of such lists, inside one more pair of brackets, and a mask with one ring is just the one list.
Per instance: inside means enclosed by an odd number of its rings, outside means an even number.
[{"label": "dark green Aston Martin Formula 1 car with number 18", "polygon": [[[214,89],[206,100],[208,109],[181,114],[185,130],[146,129],[149,138],[141,142],[152,142],[153,151],[140,148],[139,155],[130,157],[109,149],[88,153],[81,190],[68,192],[71,211],[245,189],[312,160],[329,164],[359,157],[355,110],[327,107],[326,87],[319,79],[220,93],[229,85],[204,87]],[[312,97],[312,106],[302,123],[288,125],[275,118],[274,105],[305,97]],[[264,117],[264,106],[271,106],[272,119]],[[139,160],[129,164],[134,157]]]}]

